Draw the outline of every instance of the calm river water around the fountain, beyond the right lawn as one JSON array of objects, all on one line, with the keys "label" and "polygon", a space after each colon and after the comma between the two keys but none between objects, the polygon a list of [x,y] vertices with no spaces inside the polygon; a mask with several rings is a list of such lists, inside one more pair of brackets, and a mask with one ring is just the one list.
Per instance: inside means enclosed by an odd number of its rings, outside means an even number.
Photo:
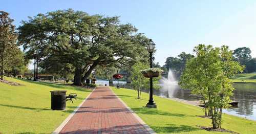
[{"label": "calm river water around the fountain, beyond the right lawn", "polygon": [[[96,83],[109,85],[109,81],[103,80],[98,80]],[[116,85],[117,81],[113,83]],[[119,81],[119,85],[131,88],[125,81]],[[236,90],[234,90],[234,95],[231,99],[239,102],[238,107],[230,107],[229,109],[224,109],[223,112],[256,121],[256,84],[234,84],[234,88]],[[143,91],[148,92],[148,90]],[[165,98],[175,97],[185,100],[200,100],[199,96],[191,95],[189,90],[182,90],[178,85],[162,86],[160,90],[154,90],[154,95]]]}]

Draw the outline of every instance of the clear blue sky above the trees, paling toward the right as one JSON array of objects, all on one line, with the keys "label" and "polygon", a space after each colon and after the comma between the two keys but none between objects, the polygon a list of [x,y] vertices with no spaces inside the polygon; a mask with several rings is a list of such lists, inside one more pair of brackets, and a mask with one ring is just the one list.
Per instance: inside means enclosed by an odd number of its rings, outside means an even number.
[{"label": "clear blue sky above the trees, paling toward the right", "polygon": [[193,53],[200,43],[234,50],[249,47],[256,57],[256,1],[3,1],[0,10],[21,20],[38,13],[72,8],[91,15],[120,16],[156,43],[156,61]]}]

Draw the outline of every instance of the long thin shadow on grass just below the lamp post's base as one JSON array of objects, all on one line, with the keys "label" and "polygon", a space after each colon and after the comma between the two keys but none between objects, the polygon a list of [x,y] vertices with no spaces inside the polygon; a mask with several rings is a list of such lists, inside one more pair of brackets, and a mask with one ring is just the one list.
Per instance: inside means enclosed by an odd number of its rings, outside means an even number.
[{"label": "long thin shadow on grass just below the lamp post's base", "polygon": [[135,111],[136,114],[146,114],[146,115],[161,115],[161,116],[177,116],[177,117],[184,117],[186,115],[184,114],[173,114],[166,111],[161,111],[153,108],[132,108],[133,111]]}]

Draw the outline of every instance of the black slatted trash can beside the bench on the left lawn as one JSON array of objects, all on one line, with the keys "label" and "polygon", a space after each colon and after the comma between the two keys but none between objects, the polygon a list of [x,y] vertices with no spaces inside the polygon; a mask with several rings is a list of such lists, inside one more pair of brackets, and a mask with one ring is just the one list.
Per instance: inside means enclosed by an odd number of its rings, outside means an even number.
[{"label": "black slatted trash can beside the bench on the left lawn", "polygon": [[66,108],[67,91],[50,91],[53,110],[64,110]]}]

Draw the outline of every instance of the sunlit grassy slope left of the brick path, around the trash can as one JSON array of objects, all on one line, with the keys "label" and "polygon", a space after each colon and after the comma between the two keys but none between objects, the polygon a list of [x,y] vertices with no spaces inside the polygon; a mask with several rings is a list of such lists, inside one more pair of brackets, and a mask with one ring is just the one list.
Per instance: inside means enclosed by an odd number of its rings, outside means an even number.
[{"label": "sunlit grassy slope left of the brick path, around the trash can", "polygon": [[[90,93],[79,87],[6,79],[23,85],[0,82],[0,133],[51,133]],[[68,101],[67,110],[51,110],[50,91],[53,90],[77,93],[78,99],[74,103]]]}]

